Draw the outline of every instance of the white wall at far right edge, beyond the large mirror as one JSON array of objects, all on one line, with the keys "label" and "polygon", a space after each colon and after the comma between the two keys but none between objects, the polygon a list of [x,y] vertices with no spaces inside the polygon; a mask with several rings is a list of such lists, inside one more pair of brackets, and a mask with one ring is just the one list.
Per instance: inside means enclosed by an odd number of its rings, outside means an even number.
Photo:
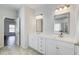
[{"label": "white wall at far right edge, beyond the large mirror", "polygon": [[[75,36],[77,41],[79,42],[79,4],[75,6]],[[73,15],[74,16],[74,15]]]}]

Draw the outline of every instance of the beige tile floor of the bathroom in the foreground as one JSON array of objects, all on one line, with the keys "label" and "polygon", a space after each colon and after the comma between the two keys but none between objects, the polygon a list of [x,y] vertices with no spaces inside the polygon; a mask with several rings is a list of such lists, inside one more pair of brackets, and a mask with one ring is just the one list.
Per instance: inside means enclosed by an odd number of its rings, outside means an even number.
[{"label": "beige tile floor of the bathroom in the foreground", "polygon": [[23,49],[20,47],[4,47],[0,48],[0,55],[40,55],[40,53],[31,48]]}]

